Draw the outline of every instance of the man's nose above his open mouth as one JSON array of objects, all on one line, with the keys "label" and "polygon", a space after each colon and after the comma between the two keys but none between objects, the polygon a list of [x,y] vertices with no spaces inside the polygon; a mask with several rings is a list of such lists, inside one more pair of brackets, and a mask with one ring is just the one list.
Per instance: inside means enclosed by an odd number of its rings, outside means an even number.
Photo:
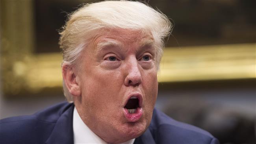
[{"label": "man's nose above his open mouth", "polygon": [[128,73],[124,79],[124,85],[137,86],[137,85],[141,84],[141,82],[142,82],[141,72],[139,70],[138,61],[135,57],[129,59],[125,69],[126,69],[126,72],[128,72]]}]

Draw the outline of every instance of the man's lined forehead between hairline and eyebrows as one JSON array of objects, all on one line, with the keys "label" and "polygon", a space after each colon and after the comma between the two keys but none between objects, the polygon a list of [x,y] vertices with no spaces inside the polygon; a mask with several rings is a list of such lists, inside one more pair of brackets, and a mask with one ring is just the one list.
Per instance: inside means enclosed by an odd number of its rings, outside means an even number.
[{"label": "man's lined forehead between hairline and eyebrows", "polygon": [[153,45],[154,39],[150,32],[142,30],[127,29],[106,29],[102,30],[93,38],[93,47],[100,50],[106,46],[124,47],[125,46],[145,46]]}]

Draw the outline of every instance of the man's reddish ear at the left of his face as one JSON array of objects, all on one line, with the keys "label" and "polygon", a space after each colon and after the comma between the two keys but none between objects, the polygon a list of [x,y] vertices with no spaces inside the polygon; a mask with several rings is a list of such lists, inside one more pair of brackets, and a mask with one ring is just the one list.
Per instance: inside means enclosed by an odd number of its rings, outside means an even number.
[{"label": "man's reddish ear at the left of his face", "polygon": [[62,76],[69,93],[73,96],[81,96],[80,81],[70,65],[62,66]]}]

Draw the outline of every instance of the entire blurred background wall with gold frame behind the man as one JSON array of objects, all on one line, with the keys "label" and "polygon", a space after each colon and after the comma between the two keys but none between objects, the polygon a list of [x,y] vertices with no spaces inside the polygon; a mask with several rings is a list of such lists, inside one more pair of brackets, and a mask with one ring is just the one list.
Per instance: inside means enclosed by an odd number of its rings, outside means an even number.
[{"label": "entire blurred background wall with gold frame behind the man", "polygon": [[[0,118],[65,100],[58,29],[83,0],[1,0]],[[147,0],[174,22],[156,107],[222,144],[255,144],[256,1]]]}]

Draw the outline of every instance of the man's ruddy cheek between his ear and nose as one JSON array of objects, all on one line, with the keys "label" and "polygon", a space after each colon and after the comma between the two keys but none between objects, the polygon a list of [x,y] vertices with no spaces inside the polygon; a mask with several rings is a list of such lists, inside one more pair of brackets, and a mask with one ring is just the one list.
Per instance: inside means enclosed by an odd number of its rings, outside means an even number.
[{"label": "man's ruddy cheek between his ear and nose", "polygon": [[[119,72],[111,70],[95,70],[83,77],[82,97],[85,103],[92,107],[106,107],[105,103],[115,102],[115,96],[122,86],[122,78]],[[102,103],[99,105],[99,103]]]}]

